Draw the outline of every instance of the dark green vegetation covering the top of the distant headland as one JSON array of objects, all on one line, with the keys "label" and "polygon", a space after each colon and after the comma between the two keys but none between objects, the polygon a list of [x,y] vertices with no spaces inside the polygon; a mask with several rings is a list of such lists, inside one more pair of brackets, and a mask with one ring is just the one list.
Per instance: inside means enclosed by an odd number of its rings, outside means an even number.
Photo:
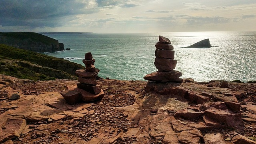
[{"label": "dark green vegetation covering the top of the distant headland", "polygon": [[0,35],[18,39],[18,40],[27,40],[30,39],[34,42],[42,42],[44,44],[58,44],[58,41],[50,38],[48,36],[44,36],[42,34],[38,34],[35,32],[0,32]]}]

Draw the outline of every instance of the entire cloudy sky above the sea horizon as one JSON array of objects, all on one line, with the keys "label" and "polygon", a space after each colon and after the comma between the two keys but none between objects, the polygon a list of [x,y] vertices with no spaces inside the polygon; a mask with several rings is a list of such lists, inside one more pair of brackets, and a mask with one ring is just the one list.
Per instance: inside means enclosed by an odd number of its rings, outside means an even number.
[{"label": "entire cloudy sky above the sea horizon", "polygon": [[256,31],[256,0],[0,0],[0,32]]}]

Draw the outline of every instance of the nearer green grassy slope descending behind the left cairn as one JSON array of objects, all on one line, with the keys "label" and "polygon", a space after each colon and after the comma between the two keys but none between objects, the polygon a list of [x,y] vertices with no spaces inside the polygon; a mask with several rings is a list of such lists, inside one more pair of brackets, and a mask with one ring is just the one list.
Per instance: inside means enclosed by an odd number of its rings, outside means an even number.
[{"label": "nearer green grassy slope descending behind the left cairn", "polygon": [[0,74],[30,80],[76,79],[76,70],[83,68],[68,60],[0,44]]}]

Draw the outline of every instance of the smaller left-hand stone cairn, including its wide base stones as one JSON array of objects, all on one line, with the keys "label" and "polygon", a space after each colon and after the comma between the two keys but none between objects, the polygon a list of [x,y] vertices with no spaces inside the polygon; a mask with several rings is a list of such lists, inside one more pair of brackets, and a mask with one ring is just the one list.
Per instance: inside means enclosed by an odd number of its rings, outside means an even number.
[{"label": "smaller left-hand stone cairn, including its wide base stones", "polygon": [[92,54],[87,52],[83,60],[86,70],[76,70],[79,82],[77,88],[60,93],[68,104],[79,103],[81,100],[92,102],[103,98],[105,95],[100,85],[97,84],[96,77],[100,70],[95,68],[94,62],[95,59],[92,59]]}]

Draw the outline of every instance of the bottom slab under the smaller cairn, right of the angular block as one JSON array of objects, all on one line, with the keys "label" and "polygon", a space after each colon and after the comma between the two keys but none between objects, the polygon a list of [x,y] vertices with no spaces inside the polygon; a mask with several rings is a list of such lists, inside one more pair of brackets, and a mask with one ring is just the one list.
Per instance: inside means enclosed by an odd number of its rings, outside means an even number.
[{"label": "bottom slab under the smaller cairn, right of the angular block", "polygon": [[105,95],[103,90],[101,90],[101,92],[99,94],[91,94],[90,92],[87,92],[87,91],[85,91],[83,89],[80,89],[80,88],[75,88],[74,90],[77,90],[77,91],[81,92],[82,100],[84,102],[93,102],[93,101],[96,101],[96,100],[100,100]]}]

